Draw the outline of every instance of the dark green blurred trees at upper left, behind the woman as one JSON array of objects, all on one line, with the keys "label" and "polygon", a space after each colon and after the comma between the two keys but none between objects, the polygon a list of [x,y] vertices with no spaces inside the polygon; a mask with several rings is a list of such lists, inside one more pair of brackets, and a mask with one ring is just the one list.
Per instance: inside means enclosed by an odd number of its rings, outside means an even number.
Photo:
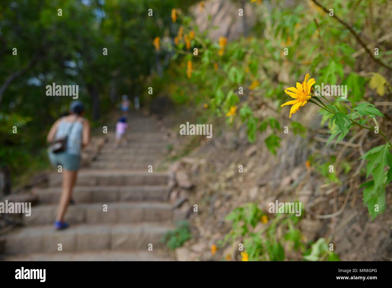
[{"label": "dark green blurred trees at upper left, behind the woman", "polygon": [[93,125],[122,94],[141,96],[162,57],[152,40],[170,32],[173,7],[186,11],[194,2],[1,1],[0,166],[15,176],[47,165],[46,133],[72,99],[46,96],[46,85],[79,85]]}]

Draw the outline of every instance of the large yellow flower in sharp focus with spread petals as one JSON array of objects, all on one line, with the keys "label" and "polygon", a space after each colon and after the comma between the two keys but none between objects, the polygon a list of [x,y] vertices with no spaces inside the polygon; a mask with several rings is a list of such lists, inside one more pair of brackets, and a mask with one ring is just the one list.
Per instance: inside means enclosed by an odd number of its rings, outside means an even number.
[{"label": "large yellow flower in sharp focus with spread petals", "polygon": [[[299,107],[305,106],[312,97],[310,92],[312,91],[312,85],[316,83],[316,80],[314,80],[314,78],[309,79],[309,77],[308,73],[305,75],[305,81],[303,81],[302,84],[297,82],[297,87],[289,87],[285,89],[286,94],[295,99],[280,105],[281,107],[285,105],[292,105],[289,118],[291,118],[291,115],[299,110]],[[307,81],[308,79],[309,81]]]}]

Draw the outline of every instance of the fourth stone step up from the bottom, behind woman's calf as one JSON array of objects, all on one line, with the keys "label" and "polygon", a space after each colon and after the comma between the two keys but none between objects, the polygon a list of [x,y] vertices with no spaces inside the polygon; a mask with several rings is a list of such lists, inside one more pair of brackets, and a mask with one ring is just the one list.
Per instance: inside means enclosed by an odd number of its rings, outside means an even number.
[{"label": "fourth stone step up from the bottom, behind woman's calf", "polygon": [[[40,189],[35,192],[42,204],[57,204],[61,187]],[[73,198],[78,203],[110,203],[125,201],[167,201],[169,190],[166,185],[155,186],[76,186]]]}]

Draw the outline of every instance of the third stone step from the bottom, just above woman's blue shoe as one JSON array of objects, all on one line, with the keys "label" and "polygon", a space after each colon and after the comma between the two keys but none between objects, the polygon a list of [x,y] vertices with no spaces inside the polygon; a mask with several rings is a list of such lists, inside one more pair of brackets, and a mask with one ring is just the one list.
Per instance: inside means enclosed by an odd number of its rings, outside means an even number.
[{"label": "third stone step from the bottom, just above woman's blue shoe", "polygon": [[[107,205],[107,211],[103,211]],[[25,225],[50,225],[56,218],[58,205],[32,207],[31,216],[23,217]],[[172,220],[173,211],[169,203],[156,202],[108,202],[76,204],[68,207],[65,221],[69,224],[140,223]]]}]

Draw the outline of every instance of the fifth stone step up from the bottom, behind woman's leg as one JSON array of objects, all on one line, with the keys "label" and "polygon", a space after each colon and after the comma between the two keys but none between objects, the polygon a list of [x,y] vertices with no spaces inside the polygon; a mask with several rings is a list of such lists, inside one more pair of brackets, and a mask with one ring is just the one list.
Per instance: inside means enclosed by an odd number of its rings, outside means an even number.
[{"label": "fifth stone step up from the bottom, behind woman's leg", "polygon": [[[77,186],[140,186],[140,185],[166,185],[168,175],[166,172],[149,173],[145,171],[132,171],[122,169],[94,170],[84,169],[78,174]],[[61,173],[49,176],[50,187],[60,187]]]}]

